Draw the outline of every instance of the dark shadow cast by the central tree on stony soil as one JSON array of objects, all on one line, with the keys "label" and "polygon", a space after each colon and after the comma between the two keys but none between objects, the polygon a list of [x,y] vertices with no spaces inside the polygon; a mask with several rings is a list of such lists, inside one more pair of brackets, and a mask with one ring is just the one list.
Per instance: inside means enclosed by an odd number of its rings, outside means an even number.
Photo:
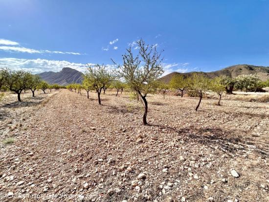
[{"label": "dark shadow cast by the central tree on stony soil", "polygon": [[[263,157],[269,157],[269,146],[266,142],[259,141],[255,136],[247,135],[244,131],[225,131],[221,128],[183,128],[177,129],[169,126],[152,125],[160,129],[168,129],[176,132],[180,139],[185,142],[197,141],[200,144],[220,148],[230,155],[239,152],[246,153],[247,150],[253,149]],[[244,133],[246,135],[244,135]],[[241,134],[241,135],[237,135]],[[253,138],[251,138],[253,137]]]}]

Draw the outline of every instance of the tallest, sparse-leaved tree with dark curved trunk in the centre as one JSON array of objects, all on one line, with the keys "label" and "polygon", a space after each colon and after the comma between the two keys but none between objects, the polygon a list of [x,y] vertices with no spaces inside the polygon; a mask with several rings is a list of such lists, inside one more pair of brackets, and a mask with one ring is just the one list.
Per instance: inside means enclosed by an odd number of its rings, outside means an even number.
[{"label": "tallest, sparse-leaved tree with dark curved trunk in the centre", "polygon": [[[141,39],[137,41],[139,54],[134,56],[131,47],[123,57],[123,64],[118,66],[118,73],[134,90],[144,106],[143,124],[147,125],[147,95],[157,90],[157,79],[163,74],[161,52],[156,45],[146,45]],[[115,62],[114,62],[115,63]]]}]

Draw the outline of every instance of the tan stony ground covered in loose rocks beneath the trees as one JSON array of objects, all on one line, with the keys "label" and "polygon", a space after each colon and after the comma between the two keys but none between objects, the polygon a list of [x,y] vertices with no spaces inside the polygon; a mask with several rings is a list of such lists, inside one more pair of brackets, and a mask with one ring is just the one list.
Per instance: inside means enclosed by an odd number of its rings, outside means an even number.
[{"label": "tan stony ground covered in loose rocks beneath the trees", "polygon": [[1,202],[269,201],[268,103],[150,95],[143,126],[127,93],[101,96],[0,104]]}]

